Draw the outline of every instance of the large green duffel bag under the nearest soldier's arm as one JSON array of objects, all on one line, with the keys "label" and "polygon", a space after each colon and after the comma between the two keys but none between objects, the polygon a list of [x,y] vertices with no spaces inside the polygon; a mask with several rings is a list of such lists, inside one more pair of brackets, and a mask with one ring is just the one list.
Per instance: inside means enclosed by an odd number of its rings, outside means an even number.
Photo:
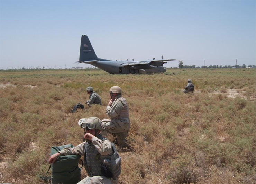
[{"label": "large green duffel bag under the nearest soldier's arm", "polygon": [[[65,147],[73,147],[72,144],[52,147],[51,155],[61,151]],[[58,156],[52,164],[52,184],[76,184],[81,180],[81,173],[78,167],[80,155]]]}]

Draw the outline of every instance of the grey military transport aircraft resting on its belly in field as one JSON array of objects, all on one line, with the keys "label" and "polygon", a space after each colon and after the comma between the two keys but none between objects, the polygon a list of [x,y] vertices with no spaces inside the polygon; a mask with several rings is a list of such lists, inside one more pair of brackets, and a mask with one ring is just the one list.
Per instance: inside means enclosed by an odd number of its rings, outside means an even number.
[{"label": "grey military transport aircraft resting on its belly in field", "polygon": [[92,48],[87,35],[82,35],[79,63],[91,64],[110,74],[152,74],[166,72],[163,67],[165,61],[176,61],[176,59],[148,60],[148,61],[111,61],[98,58]]}]

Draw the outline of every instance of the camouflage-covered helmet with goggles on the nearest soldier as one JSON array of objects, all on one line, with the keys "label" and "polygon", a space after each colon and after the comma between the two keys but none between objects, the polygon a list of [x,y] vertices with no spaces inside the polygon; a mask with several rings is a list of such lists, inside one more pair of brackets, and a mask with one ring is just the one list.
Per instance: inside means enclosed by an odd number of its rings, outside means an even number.
[{"label": "camouflage-covered helmet with goggles on the nearest soldier", "polygon": [[101,130],[101,120],[97,117],[82,118],[79,120],[78,125],[81,128],[88,128],[90,130]]}]

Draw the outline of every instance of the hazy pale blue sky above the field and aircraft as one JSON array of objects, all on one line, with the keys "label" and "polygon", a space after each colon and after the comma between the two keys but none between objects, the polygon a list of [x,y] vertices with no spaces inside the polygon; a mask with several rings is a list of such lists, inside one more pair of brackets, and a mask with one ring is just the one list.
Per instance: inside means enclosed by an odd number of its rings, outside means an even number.
[{"label": "hazy pale blue sky above the field and aircraft", "polygon": [[76,67],[81,35],[109,60],[255,65],[256,1],[0,0],[1,69]]}]

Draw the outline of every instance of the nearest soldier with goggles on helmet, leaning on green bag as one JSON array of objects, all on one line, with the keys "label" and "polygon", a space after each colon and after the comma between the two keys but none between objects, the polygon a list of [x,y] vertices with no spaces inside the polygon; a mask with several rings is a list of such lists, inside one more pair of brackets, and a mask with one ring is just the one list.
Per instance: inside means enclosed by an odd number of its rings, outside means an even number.
[{"label": "nearest soldier with goggles on helmet, leaning on green bag", "polygon": [[[59,155],[84,156],[84,167],[88,174],[77,184],[114,184],[118,182],[121,173],[121,157],[115,145],[103,138],[100,129],[101,121],[97,117],[80,119],[78,125],[84,129],[83,142],[73,148],[64,148],[49,158],[49,163],[54,163]],[[114,162],[111,162],[114,159]]]}]

